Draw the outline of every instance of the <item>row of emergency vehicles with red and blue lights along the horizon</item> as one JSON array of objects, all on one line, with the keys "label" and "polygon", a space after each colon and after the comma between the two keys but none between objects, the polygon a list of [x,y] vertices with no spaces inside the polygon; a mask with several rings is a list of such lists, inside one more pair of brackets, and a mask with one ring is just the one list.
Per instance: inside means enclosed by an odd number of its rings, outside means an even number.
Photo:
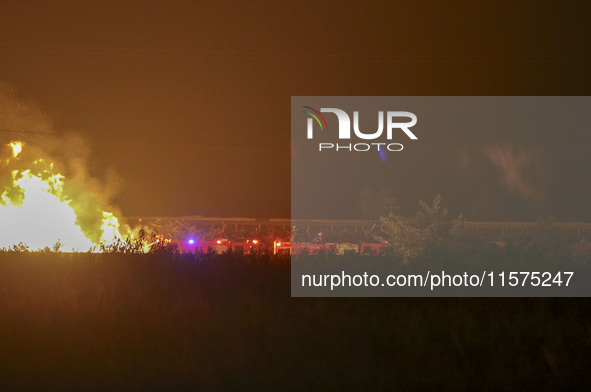
[{"label": "row of emergency vehicles with red and blue lights along the horizon", "polygon": [[276,240],[272,243],[256,239],[246,241],[230,241],[220,238],[213,241],[188,238],[185,240],[165,240],[176,245],[180,253],[207,253],[218,254],[232,251],[235,253],[255,253],[264,249],[273,250],[276,255],[300,255],[300,254],[362,254],[367,256],[382,255],[388,247],[387,243],[291,243],[289,241]]}]

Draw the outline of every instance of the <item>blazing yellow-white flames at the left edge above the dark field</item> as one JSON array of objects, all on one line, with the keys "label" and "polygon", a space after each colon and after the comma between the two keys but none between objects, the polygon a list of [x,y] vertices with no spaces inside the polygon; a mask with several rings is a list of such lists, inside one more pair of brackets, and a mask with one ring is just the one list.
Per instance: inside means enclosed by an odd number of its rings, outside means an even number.
[{"label": "blazing yellow-white flames at the left edge above the dark field", "polygon": [[115,215],[92,205],[91,198],[75,200],[53,163],[37,159],[27,166],[19,158],[23,144],[8,147],[12,157],[0,168],[0,248],[23,243],[40,250],[59,243],[63,251],[88,251],[122,239]]}]

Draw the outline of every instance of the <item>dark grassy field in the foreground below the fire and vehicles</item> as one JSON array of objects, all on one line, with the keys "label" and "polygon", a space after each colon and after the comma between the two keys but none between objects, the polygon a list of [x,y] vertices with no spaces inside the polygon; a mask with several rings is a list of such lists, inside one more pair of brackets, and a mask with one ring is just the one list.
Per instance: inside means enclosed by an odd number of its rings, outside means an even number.
[{"label": "dark grassy field in the foreground below the fire and vehicles", "polygon": [[1,390],[557,390],[586,299],[290,298],[271,256],[0,254]]}]

